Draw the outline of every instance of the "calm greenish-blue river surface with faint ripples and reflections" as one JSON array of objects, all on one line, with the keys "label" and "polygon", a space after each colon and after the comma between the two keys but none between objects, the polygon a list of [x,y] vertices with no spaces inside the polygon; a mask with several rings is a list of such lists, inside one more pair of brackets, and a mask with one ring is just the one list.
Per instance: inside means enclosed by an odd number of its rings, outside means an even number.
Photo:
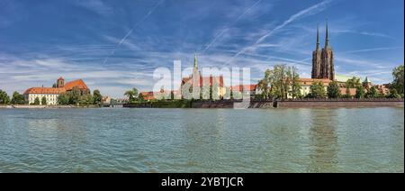
[{"label": "calm greenish-blue river surface with faint ripples and reflections", "polygon": [[403,108],[0,109],[0,172],[403,171]]}]

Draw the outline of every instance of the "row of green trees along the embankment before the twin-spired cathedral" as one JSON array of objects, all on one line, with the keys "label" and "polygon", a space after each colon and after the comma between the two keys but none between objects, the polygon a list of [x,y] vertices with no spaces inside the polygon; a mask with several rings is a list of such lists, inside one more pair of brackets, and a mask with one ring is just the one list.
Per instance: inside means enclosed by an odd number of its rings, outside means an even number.
[{"label": "row of green trees along the embankment before the twin-spired cathedral", "polygon": [[[358,77],[347,79],[342,86],[337,81],[332,81],[325,86],[321,81],[314,80],[310,86],[310,94],[302,96],[302,85],[300,76],[296,67],[287,67],[286,65],[275,65],[273,69],[266,69],[265,77],[259,80],[258,87],[261,95],[257,98],[286,99],[288,96],[294,98],[403,98],[404,97],[404,66],[401,65],[392,70],[393,81],[389,85],[390,92],[385,95],[382,89],[371,86],[365,89],[363,83]],[[340,88],[346,87],[345,94],[342,95]],[[350,88],[356,88],[356,95],[350,94]]]}]

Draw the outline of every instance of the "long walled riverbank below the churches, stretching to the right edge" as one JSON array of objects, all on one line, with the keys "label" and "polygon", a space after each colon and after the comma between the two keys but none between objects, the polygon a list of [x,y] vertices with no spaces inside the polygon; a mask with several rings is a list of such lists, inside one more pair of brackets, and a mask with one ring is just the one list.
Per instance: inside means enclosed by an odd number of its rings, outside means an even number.
[{"label": "long walled riverbank below the churches, stretching to the right edge", "polygon": [[147,103],[126,104],[126,108],[313,108],[313,107],[403,107],[403,99],[291,99],[281,101],[250,100],[246,104],[240,100],[220,101],[155,101]]}]

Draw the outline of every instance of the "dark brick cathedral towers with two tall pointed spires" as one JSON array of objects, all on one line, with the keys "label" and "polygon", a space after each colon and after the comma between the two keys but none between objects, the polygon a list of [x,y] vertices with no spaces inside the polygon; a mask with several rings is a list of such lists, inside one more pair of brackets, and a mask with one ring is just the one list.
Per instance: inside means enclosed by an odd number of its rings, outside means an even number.
[{"label": "dark brick cathedral towers with two tall pointed spires", "polygon": [[328,23],[326,24],[325,47],[320,50],[320,28],[317,29],[317,47],[312,53],[313,79],[335,80],[335,66],[333,62],[333,50],[329,46]]}]

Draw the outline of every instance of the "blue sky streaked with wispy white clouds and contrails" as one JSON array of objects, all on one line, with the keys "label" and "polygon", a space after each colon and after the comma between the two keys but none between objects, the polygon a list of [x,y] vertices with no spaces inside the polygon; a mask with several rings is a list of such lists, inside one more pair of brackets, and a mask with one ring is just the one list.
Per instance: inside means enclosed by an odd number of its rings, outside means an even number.
[{"label": "blue sky streaked with wispy white clouds and contrails", "polygon": [[0,89],[10,94],[83,78],[104,95],[152,89],[153,70],[275,64],[311,77],[320,23],[329,21],[338,75],[392,81],[404,63],[402,0],[0,0]]}]

